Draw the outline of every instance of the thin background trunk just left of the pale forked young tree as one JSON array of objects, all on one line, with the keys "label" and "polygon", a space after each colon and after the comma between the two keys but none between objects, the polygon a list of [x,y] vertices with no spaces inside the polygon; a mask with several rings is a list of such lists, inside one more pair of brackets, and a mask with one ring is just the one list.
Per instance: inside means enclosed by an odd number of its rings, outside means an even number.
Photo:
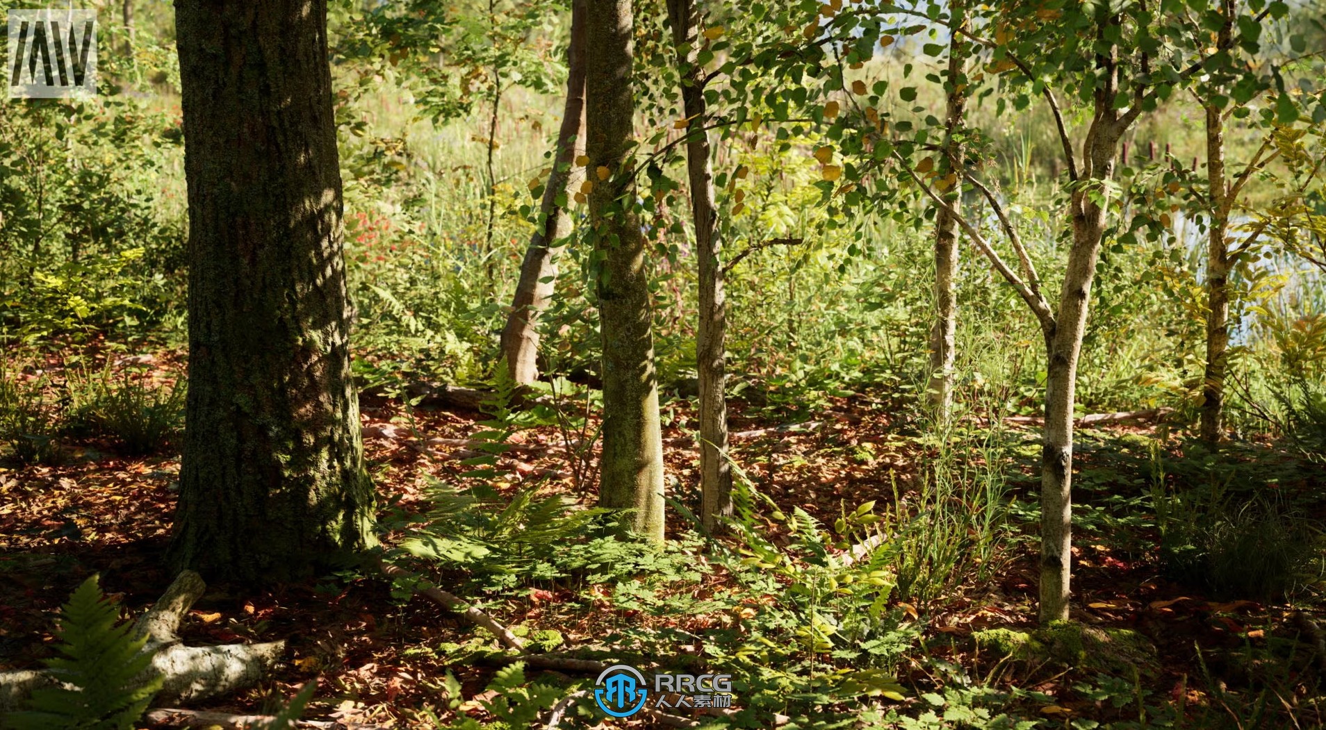
[{"label": "thin background trunk just left of the pale forked young tree", "polygon": [[[960,17],[961,7],[952,4],[955,19]],[[957,24],[965,28],[964,23]],[[963,164],[963,110],[967,106],[967,44],[963,34],[949,33],[948,40],[948,114],[944,119],[944,163],[941,171],[953,174],[955,183],[949,188],[949,205],[940,207],[935,213],[935,325],[930,342],[930,404],[940,420],[947,420],[953,404],[953,360],[957,333],[957,297],[953,291],[953,274],[957,270],[957,213],[961,205],[961,164]]]}]

